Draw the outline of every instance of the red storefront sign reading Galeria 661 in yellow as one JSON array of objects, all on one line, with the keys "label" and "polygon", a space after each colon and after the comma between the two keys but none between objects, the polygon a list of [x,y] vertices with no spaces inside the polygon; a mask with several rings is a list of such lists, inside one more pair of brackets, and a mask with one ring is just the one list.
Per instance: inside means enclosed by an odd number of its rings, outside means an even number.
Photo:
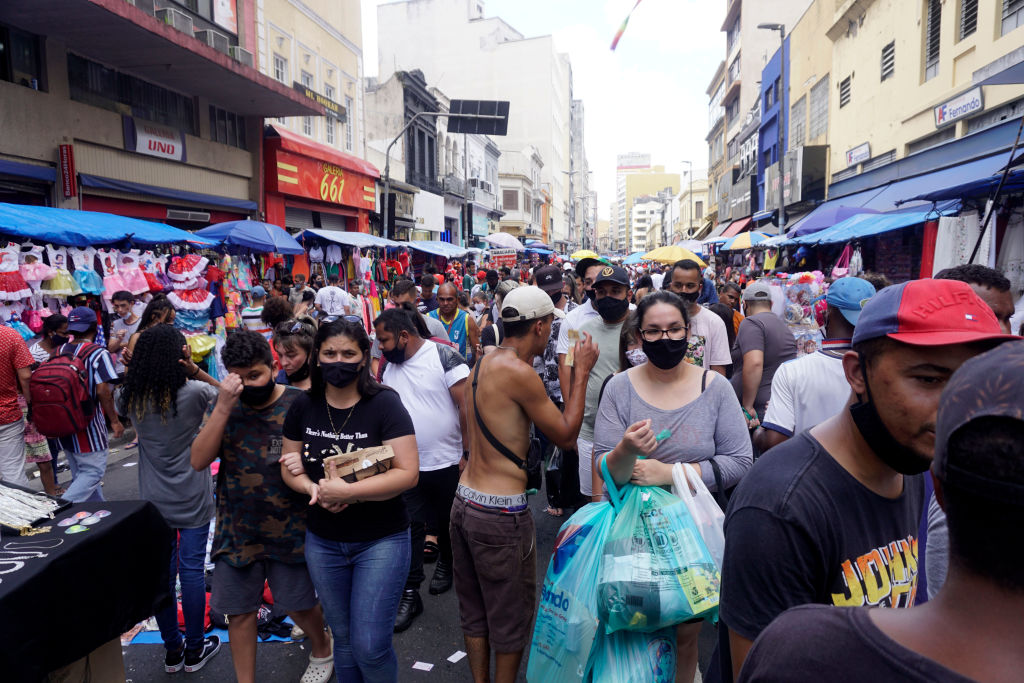
[{"label": "red storefront sign reading Galeria 661 in yellow", "polygon": [[371,211],[376,207],[375,183],[361,173],[280,150],[270,155],[267,165],[270,191]]}]

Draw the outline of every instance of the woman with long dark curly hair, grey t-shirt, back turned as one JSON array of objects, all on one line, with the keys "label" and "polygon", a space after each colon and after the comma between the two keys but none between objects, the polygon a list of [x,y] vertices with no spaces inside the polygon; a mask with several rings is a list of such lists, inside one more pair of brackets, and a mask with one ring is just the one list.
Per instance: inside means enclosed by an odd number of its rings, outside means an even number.
[{"label": "woman with long dark curly hair, grey t-shirt, back turned", "polygon": [[[117,393],[119,413],[131,417],[138,433],[139,495],[156,505],[176,531],[170,589],[173,594],[174,579],[180,575],[185,637],[182,640],[178,631],[177,605],[157,612],[168,673],[184,666],[185,649],[203,651],[219,645],[216,636],[204,639],[203,635],[204,559],[214,515],[213,478],[209,468],[197,472],[189,462],[193,439],[218,386],[193,362],[180,332],[170,325],[154,324],[139,335]],[[207,640],[216,642],[208,644]]]}]

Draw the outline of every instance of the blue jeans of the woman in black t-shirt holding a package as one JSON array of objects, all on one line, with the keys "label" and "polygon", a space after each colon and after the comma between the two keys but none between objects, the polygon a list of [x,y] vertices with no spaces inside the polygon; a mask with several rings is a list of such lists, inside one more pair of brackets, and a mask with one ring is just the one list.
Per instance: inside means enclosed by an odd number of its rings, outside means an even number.
[{"label": "blue jeans of the woman in black t-shirt holding a package", "polygon": [[339,683],[398,680],[391,636],[411,551],[408,528],[367,543],[306,531],[306,565],[334,634]]}]

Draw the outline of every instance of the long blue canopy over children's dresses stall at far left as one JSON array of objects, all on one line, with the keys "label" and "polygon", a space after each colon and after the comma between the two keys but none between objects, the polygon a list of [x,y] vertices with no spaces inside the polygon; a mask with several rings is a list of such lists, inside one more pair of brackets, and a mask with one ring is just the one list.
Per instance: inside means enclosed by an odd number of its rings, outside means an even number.
[{"label": "long blue canopy over children's dresses stall at far left", "polygon": [[175,242],[190,242],[204,246],[214,244],[164,223],[98,211],[22,204],[0,204],[0,232],[65,247],[110,245],[125,241],[139,245]]}]

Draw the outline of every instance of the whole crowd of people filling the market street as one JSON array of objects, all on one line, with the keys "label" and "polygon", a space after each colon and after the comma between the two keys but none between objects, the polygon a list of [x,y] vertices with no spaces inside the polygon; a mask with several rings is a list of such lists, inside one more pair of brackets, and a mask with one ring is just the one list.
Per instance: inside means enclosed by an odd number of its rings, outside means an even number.
[{"label": "whole crowd of people filling the market street", "polygon": [[[264,282],[219,380],[159,295],[139,310],[115,294],[104,344],[89,307],[31,348],[0,326],[0,475],[28,485],[37,463],[48,493],[103,500],[109,437],[134,430],[140,496],[176,530],[184,633],[176,605],[156,614],[168,673],[220,649],[203,628],[213,519],[210,608],[238,680],[255,677],[267,586],[309,639],[303,681],[397,680],[392,636],[433,564],[474,680],[512,681],[538,594],[527,496],[543,487],[554,517],[606,500],[603,458],[620,485],[669,487],[682,464],[725,510],[706,680],[1019,676],[1024,343],[999,272],[836,279],[820,348],[799,355],[766,282],[694,260],[481,265],[399,278],[371,325],[358,281]],[[61,357],[94,410],[47,444],[30,381]],[[339,470],[382,447],[383,471]],[[700,628],[676,628],[676,680],[694,680]]]}]

